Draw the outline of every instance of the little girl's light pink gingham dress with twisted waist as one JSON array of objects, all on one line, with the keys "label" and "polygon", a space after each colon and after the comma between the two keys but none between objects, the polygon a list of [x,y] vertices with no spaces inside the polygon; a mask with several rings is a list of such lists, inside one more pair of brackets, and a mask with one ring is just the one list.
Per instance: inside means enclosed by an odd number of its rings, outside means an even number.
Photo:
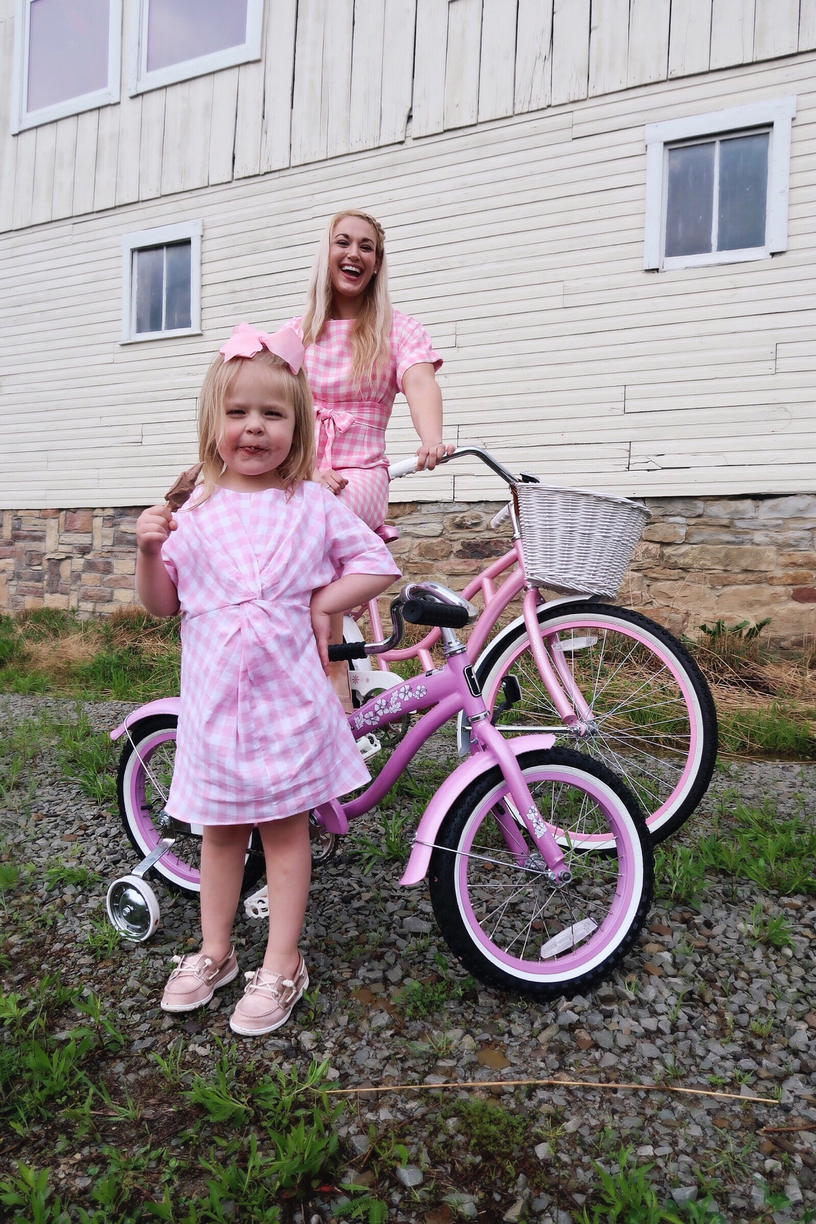
[{"label": "little girl's light pink gingham dress with twisted waist", "polygon": [[252,825],[363,786],[368,770],[321,667],[310,599],[344,574],[398,578],[385,546],[312,481],[289,501],[275,488],[215,488],[176,521],[161,548],[182,644],[168,812]]}]

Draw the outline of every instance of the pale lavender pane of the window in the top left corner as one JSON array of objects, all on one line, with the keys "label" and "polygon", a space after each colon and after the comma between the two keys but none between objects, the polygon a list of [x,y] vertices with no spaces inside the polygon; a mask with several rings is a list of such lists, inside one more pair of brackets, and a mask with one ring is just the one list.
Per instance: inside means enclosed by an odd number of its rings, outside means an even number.
[{"label": "pale lavender pane of the window in the top left corner", "polygon": [[109,0],[32,0],[28,110],[108,84]]}]

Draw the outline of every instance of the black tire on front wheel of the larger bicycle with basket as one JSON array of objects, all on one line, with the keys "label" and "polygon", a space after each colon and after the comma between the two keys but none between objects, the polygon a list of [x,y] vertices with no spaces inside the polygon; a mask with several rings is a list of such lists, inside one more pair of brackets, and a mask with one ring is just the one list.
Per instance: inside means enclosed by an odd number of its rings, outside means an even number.
[{"label": "black tire on front wheel of the larger bicycle with basket", "polygon": [[[666,629],[662,624],[652,621],[650,617],[642,614],[642,612],[635,612],[631,608],[618,607],[614,603],[597,603],[592,601],[586,602],[574,602],[563,603],[554,608],[541,608],[538,611],[538,623],[541,625],[546,624],[548,621],[559,619],[563,616],[614,616],[617,619],[628,622],[640,629],[646,629],[648,633],[653,634],[663,646],[674,656],[678,666],[685,672],[686,678],[692,687],[697,700],[700,701],[700,711],[702,717],[702,753],[700,756],[700,765],[697,767],[696,776],[691,787],[689,788],[683,802],[679,804],[677,810],[672,813],[670,818],[662,823],[659,826],[655,827],[650,825],[650,816],[646,815],[646,827],[648,829],[648,835],[652,840],[653,846],[658,846],[661,842],[672,837],[678,829],[680,829],[689,816],[696,810],[700,800],[703,798],[708,785],[711,782],[712,775],[714,772],[714,766],[717,764],[717,752],[718,752],[718,727],[717,727],[717,709],[714,706],[714,699],[711,694],[711,689],[702,674],[699,665],[691,657],[686,647],[679,641],[673,633]],[[521,638],[527,636],[527,630],[522,621],[516,625],[516,629],[511,638],[504,638],[502,641],[488,643],[487,649],[480,655],[476,661],[475,672],[476,678],[484,690],[488,688],[488,681],[492,678],[492,672],[497,666],[500,656],[506,651],[511,641],[517,643]],[[508,671],[511,671],[510,666]],[[499,723],[500,726],[500,723]],[[508,726],[505,730],[510,730]]]}]

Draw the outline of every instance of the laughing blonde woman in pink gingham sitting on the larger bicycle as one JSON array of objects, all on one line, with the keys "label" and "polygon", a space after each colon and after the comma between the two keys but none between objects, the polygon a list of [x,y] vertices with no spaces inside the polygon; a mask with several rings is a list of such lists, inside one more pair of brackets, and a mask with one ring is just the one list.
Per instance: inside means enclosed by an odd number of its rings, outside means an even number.
[{"label": "laughing blonde woman in pink gingham sitting on the larger bicycle", "polygon": [[[417,468],[432,469],[454,450],[442,441],[442,359],[421,323],[391,307],[385,233],[356,208],[336,213],[317,251],[306,311],[292,321],[306,346],[314,398],[317,466],[313,479],[336,493],[368,526],[388,512],[385,426],[398,392],[407,399],[420,438]],[[341,638],[334,618],[333,640]],[[333,683],[350,709],[345,663]]]}]

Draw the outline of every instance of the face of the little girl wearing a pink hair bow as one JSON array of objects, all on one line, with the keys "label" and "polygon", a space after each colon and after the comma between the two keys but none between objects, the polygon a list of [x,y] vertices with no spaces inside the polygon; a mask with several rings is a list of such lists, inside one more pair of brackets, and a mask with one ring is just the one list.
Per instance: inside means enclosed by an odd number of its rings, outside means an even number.
[{"label": "face of the little girl wearing a pink hair bow", "polygon": [[259,361],[242,361],[224,400],[224,428],[218,453],[226,464],[219,483],[239,492],[283,488],[278,476],[292,447],[295,409],[283,381]]}]

